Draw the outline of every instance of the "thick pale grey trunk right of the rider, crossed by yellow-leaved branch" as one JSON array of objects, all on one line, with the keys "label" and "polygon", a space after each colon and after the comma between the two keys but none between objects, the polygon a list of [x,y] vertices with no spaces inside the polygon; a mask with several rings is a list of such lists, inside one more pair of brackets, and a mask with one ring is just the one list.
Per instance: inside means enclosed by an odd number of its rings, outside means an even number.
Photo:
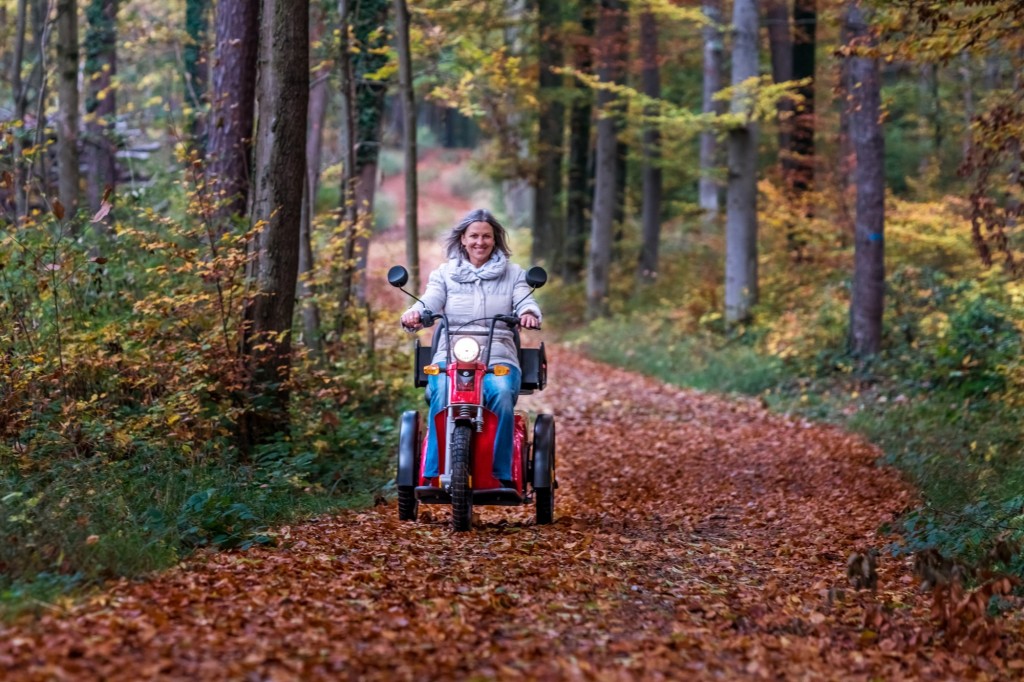
[{"label": "thick pale grey trunk right of the rider, crossed by yellow-leaved branch", "polygon": [[745,322],[758,300],[758,131],[753,96],[739,85],[758,75],[758,11],[755,0],[735,0],[732,24],[733,94],[730,111],[745,124],[729,130],[729,187],[725,222],[725,322]]}]

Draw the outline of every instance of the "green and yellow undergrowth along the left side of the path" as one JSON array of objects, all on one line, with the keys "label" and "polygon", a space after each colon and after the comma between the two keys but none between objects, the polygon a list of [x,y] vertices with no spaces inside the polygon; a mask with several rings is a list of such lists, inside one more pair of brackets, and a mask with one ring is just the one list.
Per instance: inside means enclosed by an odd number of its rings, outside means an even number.
[{"label": "green and yellow undergrowth along the left side of the path", "polygon": [[201,185],[177,196],[159,214],[124,198],[109,223],[54,204],[0,235],[0,615],[272,543],[273,524],[369,504],[392,476],[408,358],[368,341],[366,315],[319,356],[296,347],[290,424],[240,447],[259,399],[240,342],[253,233],[211,225]]}]

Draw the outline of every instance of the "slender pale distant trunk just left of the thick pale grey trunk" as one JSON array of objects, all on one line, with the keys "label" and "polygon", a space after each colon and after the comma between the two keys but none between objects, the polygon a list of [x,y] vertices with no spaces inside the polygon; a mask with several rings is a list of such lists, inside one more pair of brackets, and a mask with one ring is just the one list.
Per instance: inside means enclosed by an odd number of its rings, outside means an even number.
[{"label": "slender pale distant trunk just left of the thick pale grey trunk", "polygon": [[[703,103],[705,114],[722,114],[724,102],[714,101],[715,93],[722,88],[722,0],[703,0],[701,9],[710,24],[703,28]],[[719,165],[718,136],[714,130],[706,130],[700,134],[700,180],[697,194],[700,210],[703,213],[705,229],[710,228],[718,220],[721,205],[719,203],[719,181],[716,169]]]}]

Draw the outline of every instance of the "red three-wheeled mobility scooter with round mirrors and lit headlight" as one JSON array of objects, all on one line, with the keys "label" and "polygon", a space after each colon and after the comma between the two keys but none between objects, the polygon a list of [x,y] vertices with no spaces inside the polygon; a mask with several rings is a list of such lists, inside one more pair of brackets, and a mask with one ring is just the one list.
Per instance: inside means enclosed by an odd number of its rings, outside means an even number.
[{"label": "red three-wheeled mobility scooter with round mirrors and lit headlight", "polygon": [[[401,265],[388,271],[388,284],[402,289],[409,272]],[[531,267],[526,283],[531,289],[543,287],[548,275],[543,267]],[[506,325],[516,332],[519,367],[522,372],[519,394],[543,390],[547,384],[548,363],[544,343],[538,348],[523,348],[518,343],[519,318],[515,315],[495,315],[473,321],[474,326],[489,326],[486,332],[452,329],[443,313],[420,312],[424,327],[439,322],[433,346],[421,346],[416,341],[414,377],[417,387],[426,387],[428,375],[447,376],[445,408],[436,416],[438,485],[429,485],[422,476],[427,453],[427,429],[420,413],[410,410],[402,414],[398,435],[398,518],[415,521],[421,504],[451,505],[452,527],[469,530],[473,524],[474,505],[536,505],[537,523],[551,523],[554,518],[555,488],[555,420],[551,415],[538,415],[532,437],[526,416],[516,412],[513,427],[512,480],[515,487],[504,487],[492,475],[495,431],[498,417],[483,407],[483,377],[495,372],[507,373],[503,366],[487,368],[490,343],[497,325]],[[438,335],[447,337],[447,363],[441,369],[433,365]],[[482,341],[482,343],[481,343]],[[427,413],[429,415],[429,411]]]}]

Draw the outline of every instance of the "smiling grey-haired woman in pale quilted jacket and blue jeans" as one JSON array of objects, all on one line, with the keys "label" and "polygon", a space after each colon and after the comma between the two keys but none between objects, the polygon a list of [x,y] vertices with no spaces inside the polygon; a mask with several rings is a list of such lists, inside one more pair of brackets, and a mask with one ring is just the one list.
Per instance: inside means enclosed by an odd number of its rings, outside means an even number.
[{"label": "smiling grey-haired woman in pale quilted jacket and blue jeans", "polygon": [[[509,261],[511,251],[505,228],[489,211],[471,211],[452,228],[444,240],[446,263],[430,273],[427,290],[418,302],[401,315],[402,327],[418,330],[423,327],[420,311],[424,308],[444,312],[453,330],[466,325],[466,330],[485,331],[496,314],[519,315],[526,329],[541,327],[541,308],[534,300],[521,267]],[[514,308],[513,308],[514,306]],[[447,339],[440,335],[433,363],[444,367],[447,359]],[[519,397],[519,357],[511,330],[499,324],[490,346],[489,367],[510,368],[504,377],[488,374],[483,379],[483,404],[498,417],[495,434],[494,476],[504,487],[516,487],[512,480],[512,430],[516,399]],[[430,417],[427,420],[427,459],[424,478],[437,476],[437,440],[434,437],[434,417],[444,409],[447,376],[430,377],[427,399]]]}]

